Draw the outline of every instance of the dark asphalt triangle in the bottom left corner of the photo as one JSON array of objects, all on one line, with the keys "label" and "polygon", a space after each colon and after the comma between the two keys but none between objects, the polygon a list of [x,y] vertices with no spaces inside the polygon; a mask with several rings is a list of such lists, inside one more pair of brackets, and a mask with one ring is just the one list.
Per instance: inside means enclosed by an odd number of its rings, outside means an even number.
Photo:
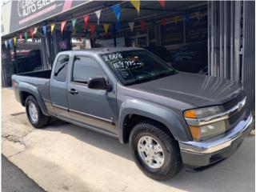
[{"label": "dark asphalt triangle in the bottom left corner of the photo", "polygon": [[2,192],[44,192],[33,180],[26,176],[2,155]]}]

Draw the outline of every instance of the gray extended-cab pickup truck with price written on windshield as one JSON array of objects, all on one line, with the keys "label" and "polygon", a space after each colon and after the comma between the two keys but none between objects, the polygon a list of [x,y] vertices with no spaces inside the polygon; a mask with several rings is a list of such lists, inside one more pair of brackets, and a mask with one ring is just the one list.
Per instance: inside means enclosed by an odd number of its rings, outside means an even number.
[{"label": "gray extended-cab pickup truck with price written on windshield", "polygon": [[157,180],[229,157],[253,119],[238,83],[179,72],[139,48],[61,52],[53,70],[12,81],[34,127],[54,117],[129,142]]}]

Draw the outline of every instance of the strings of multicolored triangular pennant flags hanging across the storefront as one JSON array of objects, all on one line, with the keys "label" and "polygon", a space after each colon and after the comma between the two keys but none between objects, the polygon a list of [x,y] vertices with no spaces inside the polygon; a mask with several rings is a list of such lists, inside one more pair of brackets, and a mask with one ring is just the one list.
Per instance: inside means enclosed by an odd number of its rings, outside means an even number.
[{"label": "strings of multicolored triangular pennant flags hanging across the storefront", "polygon": [[[158,2],[162,6],[162,8],[164,9],[165,6],[166,6],[166,0],[158,0]],[[134,9],[137,11],[137,13],[139,15],[139,13],[140,13],[140,0],[130,0],[130,3],[131,3],[132,6],[134,6]],[[114,6],[110,6],[110,9],[114,12],[114,15],[117,19],[116,30],[120,29],[120,17],[121,17],[121,5],[120,4],[121,3],[118,3]],[[102,10],[105,10],[105,9],[102,9]],[[98,26],[99,26],[99,21],[100,21],[102,10],[97,10],[94,13],[91,13],[91,14],[96,15]],[[82,17],[78,17],[78,18],[83,18],[84,27],[86,27],[86,28],[89,26],[89,20],[90,20],[90,15],[91,14],[86,14]],[[195,16],[196,16],[196,18],[198,18],[198,20],[200,20],[202,18],[202,13],[196,12]],[[50,33],[53,34],[55,26],[57,24],[60,24],[60,30],[61,30],[61,33],[63,33],[63,31],[65,29],[65,26],[66,26],[66,22],[69,22],[69,21],[71,22],[72,29],[75,30],[75,26],[76,26],[76,22],[77,22],[78,18],[72,18],[70,20],[66,20],[66,21],[62,21],[62,22],[55,22],[55,23],[51,23],[50,25],[44,25],[44,26],[42,26],[42,32],[43,32],[44,35],[46,35],[47,27],[50,26]],[[174,22],[174,24],[177,24],[179,19],[180,19],[179,16],[172,17],[172,21]],[[185,20],[186,20],[186,23],[189,22],[189,20],[190,20],[190,14],[189,13],[185,14]],[[166,26],[166,22],[167,22],[167,18],[162,18],[161,19],[162,26]],[[128,26],[129,26],[131,31],[134,30],[134,22],[128,22]],[[105,34],[107,34],[109,29],[110,29],[110,23],[102,23],[102,27],[103,27],[103,30],[104,30]],[[141,28],[141,30],[146,29],[146,21],[145,20],[140,21],[140,28]],[[90,35],[94,34],[95,31],[96,31],[96,25],[90,25],[89,29],[90,29]],[[30,32],[31,38],[34,39],[34,35],[37,34],[37,32],[38,32],[38,26],[30,27],[29,32]],[[27,39],[28,39],[28,32],[27,31],[24,32],[23,34],[18,34],[18,38],[19,38],[20,42],[22,42],[23,37],[25,38],[25,41],[27,41]],[[13,45],[16,46],[18,38],[14,37],[14,38],[10,38],[10,39],[4,41],[6,47],[8,46],[8,44],[9,44],[10,47],[12,47]]]}]

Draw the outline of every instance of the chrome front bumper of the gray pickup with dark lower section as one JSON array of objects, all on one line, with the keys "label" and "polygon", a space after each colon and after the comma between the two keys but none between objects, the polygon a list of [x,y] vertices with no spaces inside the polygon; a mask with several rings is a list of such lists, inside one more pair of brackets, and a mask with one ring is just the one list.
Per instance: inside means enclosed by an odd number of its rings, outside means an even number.
[{"label": "chrome front bumper of the gray pickup with dark lower section", "polygon": [[183,164],[192,167],[208,166],[228,158],[238,149],[243,138],[250,133],[252,121],[253,117],[250,114],[226,134],[201,142],[179,142]]}]

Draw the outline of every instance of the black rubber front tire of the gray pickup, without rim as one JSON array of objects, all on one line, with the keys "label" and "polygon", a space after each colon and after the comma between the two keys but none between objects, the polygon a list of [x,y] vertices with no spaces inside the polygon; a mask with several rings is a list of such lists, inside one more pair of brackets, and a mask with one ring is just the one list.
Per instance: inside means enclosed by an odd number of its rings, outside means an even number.
[{"label": "black rubber front tire of the gray pickup, without rim", "polygon": [[[150,136],[156,139],[162,146],[165,161],[159,168],[152,168],[142,161],[138,154],[138,141],[142,136]],[[164,181],[174,177],[182,169],[182,158],[176,142],[172,135],[166,134],[162,125],[158,122],[146,120],[134,126],[130,133],[130,150],[134,161],[146,176],[155,180]]]}]

